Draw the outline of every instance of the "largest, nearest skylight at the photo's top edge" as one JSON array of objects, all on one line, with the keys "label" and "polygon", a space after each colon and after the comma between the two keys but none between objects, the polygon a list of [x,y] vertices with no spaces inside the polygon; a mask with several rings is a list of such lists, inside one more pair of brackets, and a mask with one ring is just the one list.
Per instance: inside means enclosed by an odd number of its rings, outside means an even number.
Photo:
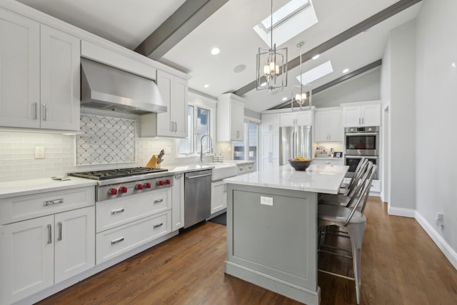
[{"label": "largest, nearest skylight at the photo's top edge", "polygon": [[[311,0],[291,0],[273,12],[273,44],[280,46],[318,22]],[[271,15],[253,27],[258,36],[271,46]]]}]

